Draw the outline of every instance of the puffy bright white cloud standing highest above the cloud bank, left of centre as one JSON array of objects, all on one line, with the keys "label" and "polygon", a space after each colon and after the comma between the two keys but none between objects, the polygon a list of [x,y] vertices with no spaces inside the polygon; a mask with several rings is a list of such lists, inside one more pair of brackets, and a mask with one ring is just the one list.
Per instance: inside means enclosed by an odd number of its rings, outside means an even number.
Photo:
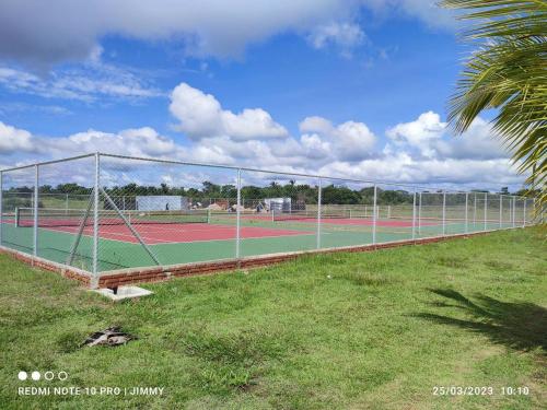
[{"label": "puffy bright white cloud standing highest above the cloud bank, left of centre", "polygon": [[230,137],[233,140],[287,138],[288,131],[261,108],[245,108],[240,114],[222,109],[211,94],[186,83],[171,95],[171,113],[181,121],[177,129],[198,140]]}]

